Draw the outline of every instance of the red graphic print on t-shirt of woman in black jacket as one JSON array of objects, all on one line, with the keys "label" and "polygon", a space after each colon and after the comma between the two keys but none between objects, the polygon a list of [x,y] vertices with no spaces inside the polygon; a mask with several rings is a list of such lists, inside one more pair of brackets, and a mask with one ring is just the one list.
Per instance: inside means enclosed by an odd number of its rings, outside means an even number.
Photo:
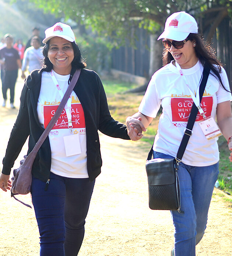
[{"label": "red graphic print on t-shirt of woman in black jacket", "polygon": [[[44,127],[46,128],[49,121],[52,119],[55,114],[58,105],[44,105],[43,107],[43,115],[44,115]],[[72,116],[72,124],[73,128],[84,128],[85,127],[85,117],[82,105],[79,104],[71,104],[71,116]],[[68,118],[66,115],[66,111],[63,110],[60,117],[56,121],[56,124],[52,129],[64,129],[68,128]]]}]

